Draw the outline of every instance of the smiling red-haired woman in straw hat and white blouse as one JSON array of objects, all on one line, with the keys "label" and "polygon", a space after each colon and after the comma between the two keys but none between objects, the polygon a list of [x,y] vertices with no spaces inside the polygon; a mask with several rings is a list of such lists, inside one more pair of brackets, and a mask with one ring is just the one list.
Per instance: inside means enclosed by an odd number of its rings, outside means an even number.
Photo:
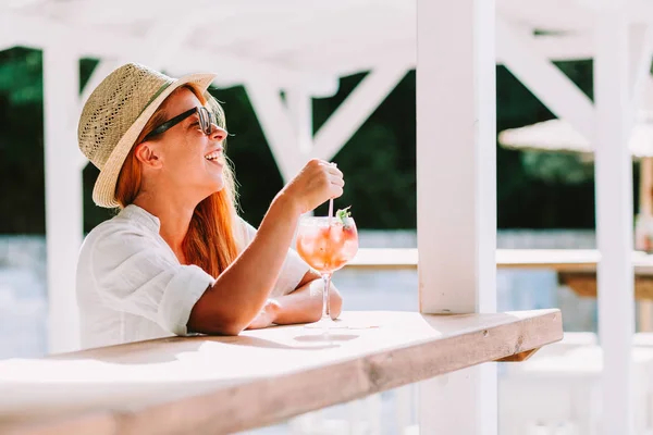
[{"label": "smiling red-haired woman in straw hat and white blouse", "polygon": [[[126,64],[84,107],[79,148],[100,170],[94,201],[121,209],[81,250],[85,348],[320,318],[320,276],[289,246],[300,214],[342,195],[343,174],[310,161],[255,231],[236,215],[213,78]],[[342,300],[331,295],[337,316]]]}]

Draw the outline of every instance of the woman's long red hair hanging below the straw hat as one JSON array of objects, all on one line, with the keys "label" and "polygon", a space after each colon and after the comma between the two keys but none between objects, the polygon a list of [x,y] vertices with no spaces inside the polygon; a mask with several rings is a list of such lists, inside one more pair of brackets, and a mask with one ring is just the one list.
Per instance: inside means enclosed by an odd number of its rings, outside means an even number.
[{"label": "woman's long red hair hanging below the straw hat", "polygon": [[[224,111],[220,103],[208,91],[201,95],[190,85],[185,87],[215,114],[218,124],[224,128]],[[164,121],[165,113],[159,108],[143,128],[136,144],[140,144],[147,133]],[[115,198],[121,208],[133,203],[140,191],[140,162],[135,156],[135,148],[132,147],[118,177]],[[237,241],[234,236],[235,179],[229,160],[224,166],[223,178],[224,187],[207,197],[195,208],[188,232],[182,244],[186,261],[200,266],[213,277],[220,275],[238,254]]]}]

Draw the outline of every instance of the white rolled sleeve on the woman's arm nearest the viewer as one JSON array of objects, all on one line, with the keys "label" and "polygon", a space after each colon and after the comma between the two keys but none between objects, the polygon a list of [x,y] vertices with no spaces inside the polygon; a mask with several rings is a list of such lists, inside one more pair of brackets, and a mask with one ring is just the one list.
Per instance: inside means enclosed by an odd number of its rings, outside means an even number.
[{"label": "white rolled sleeve on the woman's arm nearest the viewer", "polygon": [[172,251],[133,226],[100,235],[90,256],[95,287],[107,307],[175,335],[188,333],[190,310],[215,282],[197,265],[180,264]]}]

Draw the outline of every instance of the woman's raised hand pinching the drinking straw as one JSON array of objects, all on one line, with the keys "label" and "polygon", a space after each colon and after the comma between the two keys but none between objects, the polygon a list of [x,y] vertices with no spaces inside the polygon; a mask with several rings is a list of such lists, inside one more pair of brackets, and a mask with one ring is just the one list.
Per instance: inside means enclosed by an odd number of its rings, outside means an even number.
[{"label": "woman's raised hand pinching the drinking straw", "polygon": [[312,159],[279,192],[279,196],[293,201],[303,214],[331,198],[343,195],[344,185],[343,173],[335,164]]}]

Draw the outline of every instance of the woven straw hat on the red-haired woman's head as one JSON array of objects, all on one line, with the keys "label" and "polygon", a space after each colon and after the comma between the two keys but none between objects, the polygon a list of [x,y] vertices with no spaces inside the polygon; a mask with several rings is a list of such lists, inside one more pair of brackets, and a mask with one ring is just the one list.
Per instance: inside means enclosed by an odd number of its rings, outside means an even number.
[{"label": "woven straw hat on the red-haired woman's head", "polygon": [[145,124],[165,98],[186,84],[204,92],[213,78],[214,74],[172,78],[147,66],[127,63],[100,83],[84,104],[77,127],[79,149],[100,170],[93,189],[96,204],[119,207],[115,184],[120,170]]}]

